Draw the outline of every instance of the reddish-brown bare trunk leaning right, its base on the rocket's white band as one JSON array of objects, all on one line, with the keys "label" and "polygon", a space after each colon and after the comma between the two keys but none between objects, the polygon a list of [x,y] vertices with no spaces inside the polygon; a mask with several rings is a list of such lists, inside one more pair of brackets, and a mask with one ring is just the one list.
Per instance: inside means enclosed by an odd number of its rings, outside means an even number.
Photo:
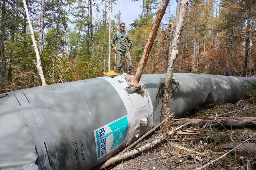
[{"label": "reddish-brown bare trunk leaning right, its base on the rocket's white band", "polygon": [[141,75],[143,73],[144,67],[145,67],[146,62],[148,60],[148,56],[150,54],[152,45],[153,45],[154,40],[156,38],[156,34],[157,34],[157,31],[158,31],[160,22],[161,22],[161,20],[162,20],[162,18],[164,16],[164,12],[166,10],[166,7],[168,6],[169,1],[170,0],[162,0],[161,4],[159,6],[159,9],[158,9],[158,11],[156,13],[156,18],[154,20],[154,23],[152,25],[150,34],[148,36],[148,41],[147,41],[146,46],[144,48],[144,51],[142,53],[141,60],[139,62],[136,74],[135,74],[135,76],[133,78],[133,82],[139,83],[139,81],[141,80]]}]

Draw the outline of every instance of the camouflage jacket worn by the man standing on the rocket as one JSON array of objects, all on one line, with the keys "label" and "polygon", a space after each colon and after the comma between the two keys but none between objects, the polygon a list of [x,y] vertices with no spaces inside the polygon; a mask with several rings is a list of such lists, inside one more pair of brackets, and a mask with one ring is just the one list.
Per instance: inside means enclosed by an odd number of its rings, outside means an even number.
[{"label": "camouflage jacket worn by the man standing on the rocket", "polygon": [[128,48],[129,49],[133,46],[129,34],[127,34],[128,36],[126,37],[126,31],[122,32],[121,30],[119,30],[118,39],[116,39],[116,36],[117,36],[116,34],[117,33],[115,32],[115,34],[113,35],[113,37],[111,38],[111,41],[110,41],[112,48],[115,46],[115,41],[116,40],[117,40],[116,48],[119,51],[127,51],[128,50],[126,48],[127,42],[128,42]]}]

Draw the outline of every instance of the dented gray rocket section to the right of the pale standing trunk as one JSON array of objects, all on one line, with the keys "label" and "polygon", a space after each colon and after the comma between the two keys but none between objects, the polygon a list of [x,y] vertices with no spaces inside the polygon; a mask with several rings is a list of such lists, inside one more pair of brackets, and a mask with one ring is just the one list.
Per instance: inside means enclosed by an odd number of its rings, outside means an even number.
[{"label": "dented gray rocket section to the right of the pale standing trunk", "polygon": [[[173,92],[171,113],[180,115],[205,102],[235,102],[244,94],[245,80],[256,83],[255,77],[215,76],[208,74],[174,74],[180,80],[179,91]],[[174,85],[173,85],[174,87]]]}]

